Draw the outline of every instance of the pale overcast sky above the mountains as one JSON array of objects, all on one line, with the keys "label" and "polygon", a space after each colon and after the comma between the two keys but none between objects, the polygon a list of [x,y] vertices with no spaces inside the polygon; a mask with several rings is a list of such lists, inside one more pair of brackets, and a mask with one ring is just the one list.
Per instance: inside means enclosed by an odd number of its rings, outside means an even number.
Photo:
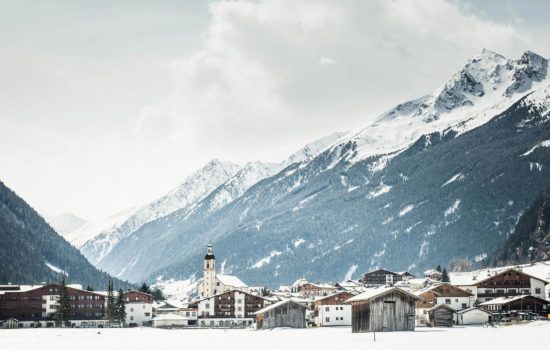
[{"label": "pale overcast sky above the mountains", "polygon": [[1,1],[0,180],[95,220],[212,158],[281,160],[488,48],[550,57],[546,1]]}]

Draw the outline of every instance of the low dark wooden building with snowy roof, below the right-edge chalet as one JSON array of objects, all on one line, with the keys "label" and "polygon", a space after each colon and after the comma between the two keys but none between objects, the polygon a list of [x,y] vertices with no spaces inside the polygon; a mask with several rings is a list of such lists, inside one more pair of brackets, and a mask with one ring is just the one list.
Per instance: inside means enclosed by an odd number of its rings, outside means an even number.
[{"label": "low dark wooden building with snowy roof, below the right-edge chalet", "polygon": [[518,316],[525,314],[547,315],[550,301],[536,297],[534,295],[516,295],[510,297],[500,297],[479,304],[479,306],[489,311],[495,320],[504,316]]}]

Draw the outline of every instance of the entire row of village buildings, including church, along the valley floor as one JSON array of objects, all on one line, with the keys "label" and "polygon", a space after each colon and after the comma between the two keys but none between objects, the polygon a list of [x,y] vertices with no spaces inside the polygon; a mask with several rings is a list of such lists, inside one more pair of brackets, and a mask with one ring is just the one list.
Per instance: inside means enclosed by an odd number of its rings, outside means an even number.
[{"label": "entire row of village buildings, including church, along the valley floor", "polygon": [[[209,244],[195,299],[168,303],[135,290],[113,294],[84,290],[79,285],[4,285],[0,286],[0,328],[58,325],[60,295],[66,295],[69,305],[66,327],[344,326],[353,332],[388,332],[550,317],[549,282],[521,268],[456,274],[448,282],[442,279],[438,270],[417,278],[408,272],[378,269],[360,280],[319,284],[299,279],[269,291],[248,287],[236,276],[216,273],[216,258]],[[122,322],[113,322],[110,295],[122,301]]]}]

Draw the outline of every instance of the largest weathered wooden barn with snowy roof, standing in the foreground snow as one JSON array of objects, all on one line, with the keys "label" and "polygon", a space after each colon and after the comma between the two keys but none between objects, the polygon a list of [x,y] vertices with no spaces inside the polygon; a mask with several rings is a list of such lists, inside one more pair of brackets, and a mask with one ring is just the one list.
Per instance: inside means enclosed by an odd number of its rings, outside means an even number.
[{"label": "largest weathered wooden barn with snowy roof, standing in the foreground snow", "polygon": [[352,332],[414,331],[418,299],[397,287],[374,288],[348,299]]}]

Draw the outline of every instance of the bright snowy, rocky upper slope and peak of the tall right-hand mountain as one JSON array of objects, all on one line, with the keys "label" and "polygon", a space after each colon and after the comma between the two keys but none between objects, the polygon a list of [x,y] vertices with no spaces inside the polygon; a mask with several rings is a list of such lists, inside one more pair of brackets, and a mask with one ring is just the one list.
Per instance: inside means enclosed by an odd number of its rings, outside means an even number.
[{"label": "bright snowy, rocky upper slope and peak of the tall right-hand mountain", "polygon": [[544,100],[547,67],[544,58],[530,51],[509,60],[484,49],[431,95],[396,106],[334,147],[355,143],[356,153],[346,159],[351,162],[384,154],[391,159],[422,135],[444,130],[465,133],[533,91],[540,90],[533,98],[542,95],[539,98]]}]

